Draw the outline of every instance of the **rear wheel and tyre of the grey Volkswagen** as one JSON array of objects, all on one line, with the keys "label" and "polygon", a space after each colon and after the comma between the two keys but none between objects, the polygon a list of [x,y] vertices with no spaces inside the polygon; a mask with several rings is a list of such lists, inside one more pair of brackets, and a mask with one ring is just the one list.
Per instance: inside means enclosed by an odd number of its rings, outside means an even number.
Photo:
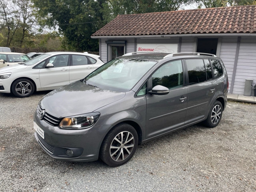
[{"label": "rear wheel and tyre of the grey Volkswagen", "polygon": [[207,119],[204,121],[204,124],[210,128],[216,127],[220,123],[222,111],[223,109],[220,101],[215,101],[210,109]]}]

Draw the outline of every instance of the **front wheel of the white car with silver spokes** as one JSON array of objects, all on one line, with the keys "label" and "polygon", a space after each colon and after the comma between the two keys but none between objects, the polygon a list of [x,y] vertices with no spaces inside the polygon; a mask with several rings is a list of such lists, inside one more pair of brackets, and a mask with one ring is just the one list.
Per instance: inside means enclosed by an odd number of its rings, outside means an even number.
[{"label": "front wheel of the white car with silver spokes", "polygon": [[12,84],[12,93],[16,97],[28,97],[35,90],[34,84],[28,79],[17,79]]}]

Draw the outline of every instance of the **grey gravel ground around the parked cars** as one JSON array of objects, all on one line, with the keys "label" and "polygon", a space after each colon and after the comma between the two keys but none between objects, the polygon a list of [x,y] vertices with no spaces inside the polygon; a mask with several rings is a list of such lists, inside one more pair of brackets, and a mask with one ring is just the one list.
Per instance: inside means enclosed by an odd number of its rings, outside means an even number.
[{"label": "grey gravel ground around the parked cars", "polygon": [[52,159],[34,139],[47,92],[0,94],[0,191],[256,191],[256,105],[228,102],[220,124],[140,145],[120,167]]}]

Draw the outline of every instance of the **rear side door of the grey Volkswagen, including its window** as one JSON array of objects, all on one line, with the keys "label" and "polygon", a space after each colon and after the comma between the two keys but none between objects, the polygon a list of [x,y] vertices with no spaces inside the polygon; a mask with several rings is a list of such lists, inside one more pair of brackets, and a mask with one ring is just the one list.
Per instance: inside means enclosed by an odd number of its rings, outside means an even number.
[{"label": "rear side door of the grey Volkswagen, including its window", "polygon": [[186,59],[188,109],[185,124],[207,116],[207,110],[215,95],[212,68],[208,59]]}]

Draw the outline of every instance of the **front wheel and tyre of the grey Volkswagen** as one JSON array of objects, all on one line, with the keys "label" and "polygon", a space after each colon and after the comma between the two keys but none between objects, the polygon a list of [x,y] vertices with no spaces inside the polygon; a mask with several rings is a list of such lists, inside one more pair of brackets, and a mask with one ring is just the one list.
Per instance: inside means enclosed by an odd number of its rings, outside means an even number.
[{"label": "front wheel and tyre of the grey Volkswagen", "polygon": [[128,162],[138,145],[136,130],[126,123],[113,127],[100,147],[100,159],[109,166],[116,167]]}]

